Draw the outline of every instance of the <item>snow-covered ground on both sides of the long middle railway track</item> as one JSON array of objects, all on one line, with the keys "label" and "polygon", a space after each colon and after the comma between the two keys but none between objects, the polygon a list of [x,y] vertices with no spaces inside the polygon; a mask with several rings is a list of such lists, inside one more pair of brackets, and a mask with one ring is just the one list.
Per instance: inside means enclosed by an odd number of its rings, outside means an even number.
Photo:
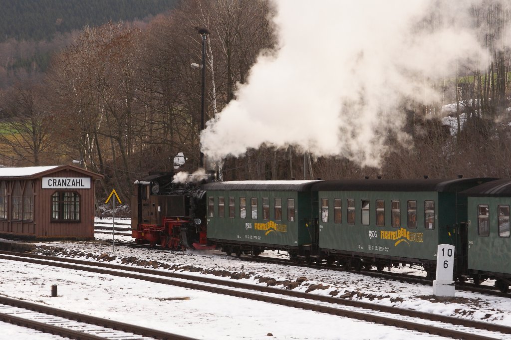
[{"label": "snow-covered ground on both sides of the long middle railway track", "polygon": [[[116,220],[117,221],[117,220]],[[171,252],[133,249],[101,241],[44,242],[41,253],[58,256],[144,265],[157,270],[223,277],[252,284],[292,287],[301,292],[335,295],[371,303],[410,308],[511,326],[507,298],[456,292],[452,301],[438,301],[432,287],[385,281],[353,273],[249,262],[215,251]],[[131,240],[116,236],[117,241]],[[51,251],[49,250],[51,247]],[[45,249],[45,250],[44,250]],[[284,256],[272,252],[272,256]],[[275,306],[235,297],[197,292],[132,279],[57,269],[22,262],[2,261],[0,294],[45,303],[80,313],[133,322],[146,327],[204,339],[408,339],[431,335],[410,332],[317,312]],[[410,271],[410,269],[406,269]],[[297,281],[303,281],[297,283]],[[58,285],[57,298],[51,286]],[[175,300],[188,297],[189,300]],[[0,339],[14,338],[4,332]],[[15,326],[5,328],[16,331]],[[19,330],[17,330],[19,332]],[[271,335],[268,335],[271,334]],[[25,338],[18,336],[18,338]],[[53,338],[32,334],[34,339]]]}]

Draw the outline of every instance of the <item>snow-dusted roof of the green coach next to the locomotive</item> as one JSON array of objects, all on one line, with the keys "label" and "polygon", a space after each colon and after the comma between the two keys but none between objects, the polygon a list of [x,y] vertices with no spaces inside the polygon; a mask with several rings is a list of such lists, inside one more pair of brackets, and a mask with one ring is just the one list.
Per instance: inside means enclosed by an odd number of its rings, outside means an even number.
[{"label": "snow-dusted roof of the green coach next to the locomotive", "polygon": [[321,181],[228,181],[204,184],[205,190],[282,190],[310,191],[313,184]]}]

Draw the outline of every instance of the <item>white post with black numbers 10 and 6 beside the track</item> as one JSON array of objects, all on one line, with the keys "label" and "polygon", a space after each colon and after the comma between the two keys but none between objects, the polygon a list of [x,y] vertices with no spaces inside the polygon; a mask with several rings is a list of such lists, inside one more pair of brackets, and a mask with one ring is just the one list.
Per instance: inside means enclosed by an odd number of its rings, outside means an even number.
[{"label": "white post with black numbers 10 and 6 beside the track", "polygon": [[436,280],[433,281],[433,295],[440,298],[454,298],[454,246],[438,245],[436,253]]}]

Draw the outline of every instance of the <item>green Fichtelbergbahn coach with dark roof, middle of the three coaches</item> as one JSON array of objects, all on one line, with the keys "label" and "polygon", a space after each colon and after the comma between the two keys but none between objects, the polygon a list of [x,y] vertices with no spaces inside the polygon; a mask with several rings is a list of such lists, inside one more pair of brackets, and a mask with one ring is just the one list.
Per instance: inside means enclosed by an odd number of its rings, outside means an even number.
[{"label": "green Fichtelbergbahn coach with dark roof, middle of the three coaches", "polygon": [[[434,274],[437,245],[466,237],[462,190],[484,179],[339,180],[313,186],[318,195],[319,249],[346,268],[422,265]],[[456,263],[462,268],[463,263]]]}]

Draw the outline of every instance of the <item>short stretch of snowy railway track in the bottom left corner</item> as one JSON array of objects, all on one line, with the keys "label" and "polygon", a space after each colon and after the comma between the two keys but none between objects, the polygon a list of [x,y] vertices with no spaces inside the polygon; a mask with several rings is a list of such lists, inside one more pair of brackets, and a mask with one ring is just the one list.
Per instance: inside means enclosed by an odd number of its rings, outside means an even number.
[{"label": "short stretch of snowy railway track in the bottom left corner", "polygon": [[71,339],[196,340],[187,336],[6,297],[0,297],[0,321]]}]

